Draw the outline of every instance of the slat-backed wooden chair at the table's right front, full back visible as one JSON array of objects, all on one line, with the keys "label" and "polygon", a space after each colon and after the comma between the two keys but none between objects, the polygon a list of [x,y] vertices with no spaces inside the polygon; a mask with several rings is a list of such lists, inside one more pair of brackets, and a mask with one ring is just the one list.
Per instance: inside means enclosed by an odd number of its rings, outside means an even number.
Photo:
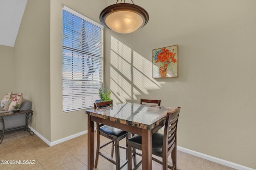
[{"label": "slat-backed wooden chair at the table's right front, full back visible", "polygon": [[[164,134],[154,133],[152,135],[152,154],[162,158],[162,161],[152,157],[152,160],[162,164],[163,170],[170,168],[171,170],[177,169],[177,123],[180,113],[180,107],[174,111],[168,112],[166,115]],[[142,150],[142,137],[135,135],[127,140],[128,142],[128,170],[132,168],[132,153],[131,149]],[[142,156],[142,154],[135,152]],[[168,156],[171,154],[172,166],[168,165]],[[142,161],[140,161],[135,167],[136,170]]]}]

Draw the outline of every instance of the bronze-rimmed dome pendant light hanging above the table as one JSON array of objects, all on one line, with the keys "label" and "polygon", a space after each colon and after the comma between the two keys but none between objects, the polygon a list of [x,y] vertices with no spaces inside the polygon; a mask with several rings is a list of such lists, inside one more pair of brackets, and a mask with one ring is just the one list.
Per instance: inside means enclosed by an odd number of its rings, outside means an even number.
[{"label": "bronze-rimmed dome pendant light hanging above the table", "polygon": [[[132,1],[132,0],[131,0]],[[144,27],[148,22],[148,12],[142,7],[132,4],[121,3],[110,5],[100,13],[100,22],[105,27],[118,33],[131,33]]]}]

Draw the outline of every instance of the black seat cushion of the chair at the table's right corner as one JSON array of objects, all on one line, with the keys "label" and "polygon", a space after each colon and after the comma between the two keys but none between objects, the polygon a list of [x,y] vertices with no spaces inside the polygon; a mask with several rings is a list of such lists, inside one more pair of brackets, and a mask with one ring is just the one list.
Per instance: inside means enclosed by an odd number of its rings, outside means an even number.
[{"label": "black seat cushion of the chair at the table's right corner", "polygon": [[[161,156],[162,157],[162,152],[163,152],[163,139],[164,135],[161,133],[154,133],[152,135],[152,153]],[[137,149],[142,148],[142,137],[140,135],[134,135],[130,139],[127,140],[128,143],[135,144]]]}]

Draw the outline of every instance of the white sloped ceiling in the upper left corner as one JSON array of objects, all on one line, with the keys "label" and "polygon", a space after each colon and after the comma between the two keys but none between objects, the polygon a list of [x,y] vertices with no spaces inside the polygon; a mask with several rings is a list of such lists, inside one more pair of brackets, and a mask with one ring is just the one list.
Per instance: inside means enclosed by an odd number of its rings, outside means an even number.
[{"label": "white sloped ceiling in the upper left corner", "polygon": [[14,47],[27,0],[0,0],[0,45]]}]

